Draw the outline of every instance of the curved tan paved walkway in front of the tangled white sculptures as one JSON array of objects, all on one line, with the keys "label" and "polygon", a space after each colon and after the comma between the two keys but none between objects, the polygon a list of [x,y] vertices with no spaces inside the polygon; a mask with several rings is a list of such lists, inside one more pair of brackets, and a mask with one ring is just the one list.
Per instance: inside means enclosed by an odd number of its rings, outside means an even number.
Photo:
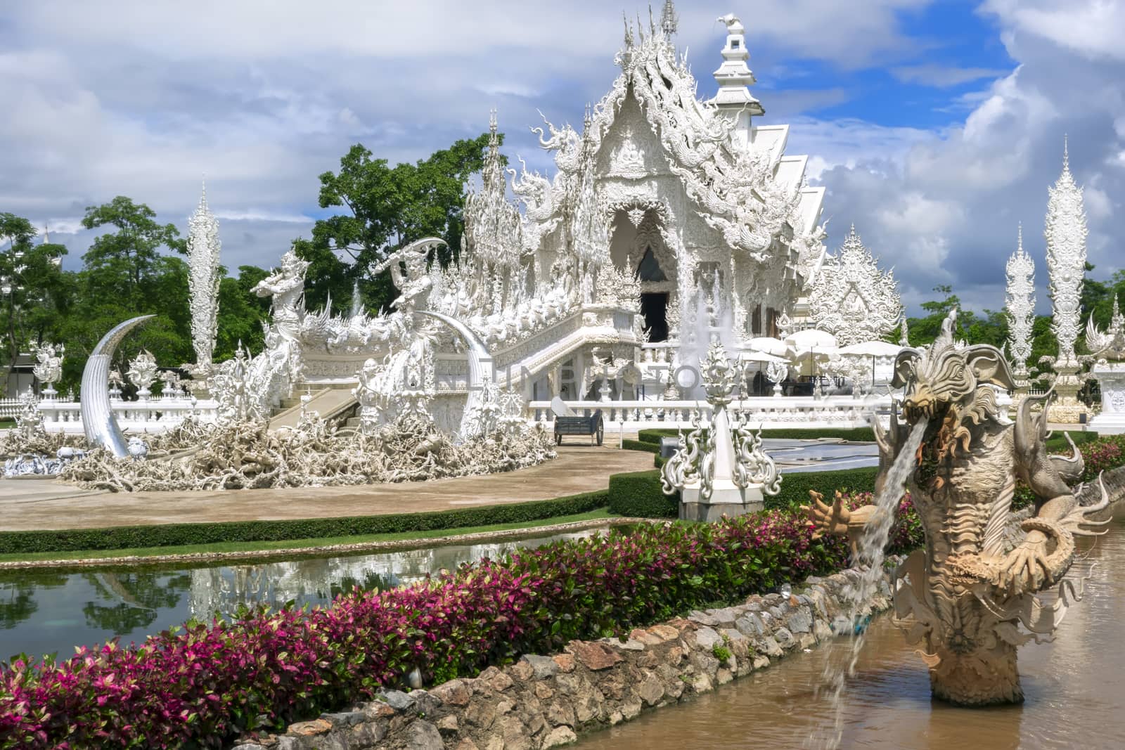
[{"label": "curved tan paved walkway in front of the tangled white sculptures", "polygon": [[605,489],[609,476],[652,468],[652,454],[562,445],[530,469],[434,481],[207,493],[101,493],[50,479],[0,480],[0,531],[330,518],[450,510]]}]

